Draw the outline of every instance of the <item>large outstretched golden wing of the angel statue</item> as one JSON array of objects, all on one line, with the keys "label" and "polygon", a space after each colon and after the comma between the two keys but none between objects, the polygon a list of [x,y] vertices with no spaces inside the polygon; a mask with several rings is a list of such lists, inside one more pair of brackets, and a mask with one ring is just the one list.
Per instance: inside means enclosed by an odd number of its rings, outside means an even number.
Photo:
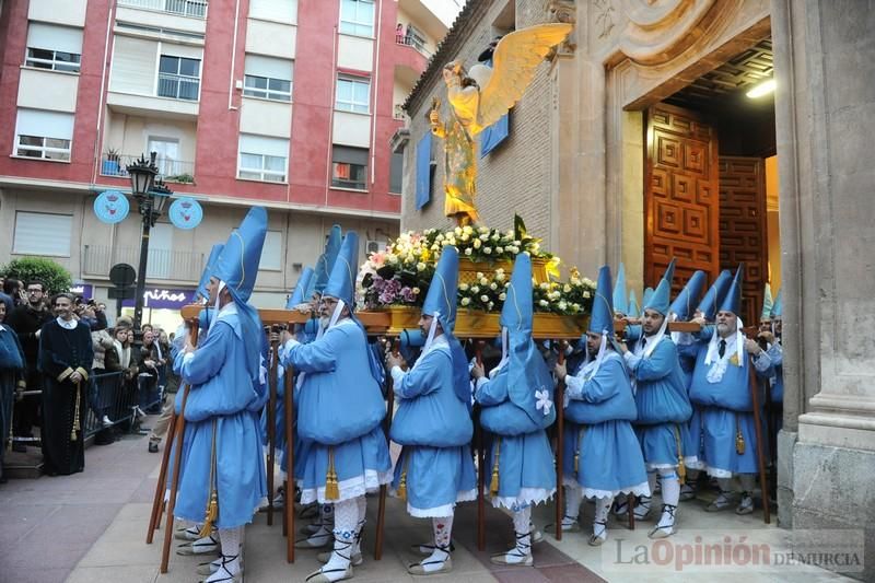
[{"label": "large outstretched golden wing of the angel statue", "polygon": [[571,28],[572,25],[565,23],[537,24],[513,32],[499,42],[492,56],[492,77],[486,88],[480,88],[478,126],[491,126],[520,101],[538,63]]}]

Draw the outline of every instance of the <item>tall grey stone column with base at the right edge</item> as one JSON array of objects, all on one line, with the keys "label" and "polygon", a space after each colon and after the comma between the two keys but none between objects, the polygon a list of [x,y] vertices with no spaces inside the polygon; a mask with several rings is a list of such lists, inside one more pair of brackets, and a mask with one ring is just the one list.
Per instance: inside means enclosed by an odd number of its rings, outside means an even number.
[{"label": "tall grey stone column with base at the right edge", "polygon": [[792,451],[779,503],[794,528],[864,528],[871,564],[849,574],[871,581],[875,2],[773,0],[772,27],[785,302],[779,457]]}]

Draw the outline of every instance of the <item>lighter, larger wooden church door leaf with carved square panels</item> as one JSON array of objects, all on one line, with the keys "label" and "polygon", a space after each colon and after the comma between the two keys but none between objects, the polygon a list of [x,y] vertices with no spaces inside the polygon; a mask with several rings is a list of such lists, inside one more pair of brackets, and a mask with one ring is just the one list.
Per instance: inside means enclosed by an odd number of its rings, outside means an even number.
[{"label": "lighter, larger wooden church door leaf with carved square panels", "polygon": [[718,250],[718,138],[696,112],[657,104],[646,113],[644,281],[655,287],[677,257],[674,291],[697,269],[713,281]]}]

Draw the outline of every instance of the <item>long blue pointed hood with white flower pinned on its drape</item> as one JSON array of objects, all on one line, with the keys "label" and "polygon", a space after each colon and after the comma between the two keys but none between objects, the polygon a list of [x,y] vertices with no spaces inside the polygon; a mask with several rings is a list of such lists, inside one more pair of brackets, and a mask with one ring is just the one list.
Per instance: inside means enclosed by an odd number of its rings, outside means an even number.
[{"label": "long blue pointed hood with white flower pinned on its drape", "polygon": [[[508,383],[508,396],[538,427],[546,428],[556,419],[556,408],[538,408],[538,396],[549,396],[552,401],[553,381],[550,371],[532,338],[532,258],[521,253],[514,261],[511,283],[508,287],[504,307],[501,311],[501,326],[508,328],[508,374],[502,375]],[[495,378],[497,382],[499,378]]]}]

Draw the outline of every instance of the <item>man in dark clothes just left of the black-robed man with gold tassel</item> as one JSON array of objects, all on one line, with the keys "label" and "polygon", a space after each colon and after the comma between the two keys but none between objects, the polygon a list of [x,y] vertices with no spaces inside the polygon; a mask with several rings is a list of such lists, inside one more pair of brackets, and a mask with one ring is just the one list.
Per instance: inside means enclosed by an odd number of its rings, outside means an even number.
[{"label": "man in dark clothes just left of the black-robed man with gold tassel", "polygon": [[[19,341],[24,349],[25,386],[28,390],[39,390],[43,387],[42,377],[37,371],[39,330],[46,322],[51,319],[51,312],[46,307],[46,288],[42,281],[28,281],[26,290],[27,302],[18,306],[11,314],[7,313],[7,323],[19,335]],[[34,436],[34,425],[39,424],[38,395],[28,395],[15,403],[13,422],[13,432],[16,438]],[[25,445],[23,442],[16,442],[13,448],[23,452]]]}]

